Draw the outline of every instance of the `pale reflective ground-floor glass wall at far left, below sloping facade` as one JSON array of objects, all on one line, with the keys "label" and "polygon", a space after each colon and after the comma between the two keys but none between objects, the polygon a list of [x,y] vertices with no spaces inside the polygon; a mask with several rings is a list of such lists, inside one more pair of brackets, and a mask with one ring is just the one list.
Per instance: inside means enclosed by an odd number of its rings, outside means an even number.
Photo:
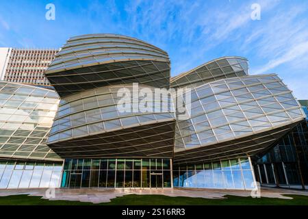
[{"label": "pale reflective ground-floor glass wall at far left, below sloping facade", "polygon": [[0,189],[58,188],[62,164],[0,160]]}]

